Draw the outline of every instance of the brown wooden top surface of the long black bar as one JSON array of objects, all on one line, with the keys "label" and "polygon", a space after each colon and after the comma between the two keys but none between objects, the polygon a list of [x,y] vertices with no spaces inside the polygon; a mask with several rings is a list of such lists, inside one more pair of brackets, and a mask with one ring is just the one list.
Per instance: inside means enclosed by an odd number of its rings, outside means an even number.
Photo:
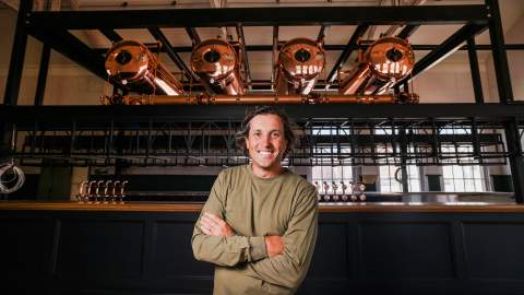
[{"label": "brown wooden top surface of the long black bar", "polygon": [[[67,201],[0,201],[0,210],[47,211],[130,211],[130,212],[193,212],[202,203],[126,202],[123,204],[79,203]],[[450,203],[321,203],[320,212],[522,212],[524,205],[513,203],[450,202]]]}]

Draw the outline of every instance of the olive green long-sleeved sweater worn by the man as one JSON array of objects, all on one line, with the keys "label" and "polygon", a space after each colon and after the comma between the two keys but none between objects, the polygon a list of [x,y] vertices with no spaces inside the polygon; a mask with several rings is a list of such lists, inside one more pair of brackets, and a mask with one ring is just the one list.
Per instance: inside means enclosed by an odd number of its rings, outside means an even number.
[{"label": "olive green long-sleeved sweater worn by the man", "polygon": [[[309,268],[317,240],[314,187],[284,169],[257,177],[250,165],[223,170],[202,209],[231,226],[233,237],[193,231],[194,257],[215,264],[214,294],[294,294]],[[201,215],[202,215],[201,213]],[[284,252],[269,258],[264,236],[279,235]]]}]

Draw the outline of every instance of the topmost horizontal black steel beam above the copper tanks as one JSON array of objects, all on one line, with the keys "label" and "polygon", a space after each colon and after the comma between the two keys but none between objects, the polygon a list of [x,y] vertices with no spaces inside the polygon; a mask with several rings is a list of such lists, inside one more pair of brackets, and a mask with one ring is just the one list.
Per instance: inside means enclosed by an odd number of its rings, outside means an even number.
[{"label": "topmost horizontal black steel beam above the copper tanks", "polygon": [[[277,7],[123,11],[35,12],[46,28],[219,27],[274,25],[487,24],[485,5]],[[132,20],[132,21],[130,21]]]}]

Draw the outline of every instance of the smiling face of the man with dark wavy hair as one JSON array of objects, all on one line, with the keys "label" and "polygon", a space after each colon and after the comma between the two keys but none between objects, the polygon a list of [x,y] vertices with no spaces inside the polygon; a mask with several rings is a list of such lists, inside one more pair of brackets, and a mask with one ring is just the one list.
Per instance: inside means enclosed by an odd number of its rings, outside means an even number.
[{"label": "smiling face of the man with dark wavy hair", "polygon": [[277,115],[258,115],[251,119],[246,148],[253,161],[253,169],[279,172],[286,146],[284,125]]}]

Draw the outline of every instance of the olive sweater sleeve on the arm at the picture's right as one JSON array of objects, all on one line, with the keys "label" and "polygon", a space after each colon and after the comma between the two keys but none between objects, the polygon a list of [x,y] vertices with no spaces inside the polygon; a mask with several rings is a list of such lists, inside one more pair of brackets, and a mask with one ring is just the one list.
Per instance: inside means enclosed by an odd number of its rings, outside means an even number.
[{"label": "olive sweater sleeve on the arm at the picture's right", "polygon": [[318,232],[318,204],[313,188],[300,196],[285,232],[284,252],[249,263],[251,275],[271,284],[297,288],[306,276]]}]

